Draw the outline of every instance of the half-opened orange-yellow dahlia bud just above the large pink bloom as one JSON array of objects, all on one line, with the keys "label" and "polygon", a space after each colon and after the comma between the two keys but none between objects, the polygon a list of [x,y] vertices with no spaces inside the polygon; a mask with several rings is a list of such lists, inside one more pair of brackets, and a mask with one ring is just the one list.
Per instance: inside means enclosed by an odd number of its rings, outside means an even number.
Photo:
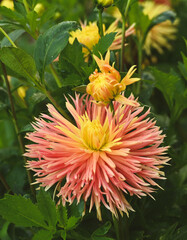
[{"label": "half-opened orange-yellow dahlia bud just above the large pink bloom", "polygon": [[99,59],[94,56],[95,61],[101,72],[96,69],[93,74],[90,75],[90,83],[87,85],[86,91],[90,94],[94,100],[108,104],[113,99],[123,104],[137,105],[137,101],[132,101],[121,95],[120,93],[126,89],[127,85],[130,85],[140,78],[131,78],[136,71],[135,66],[132,66],[126,76],[121,80],[120,73],[114,68],[114,64],[110,66],[110,52],[108,51],[105,59],[102,56]]}]

